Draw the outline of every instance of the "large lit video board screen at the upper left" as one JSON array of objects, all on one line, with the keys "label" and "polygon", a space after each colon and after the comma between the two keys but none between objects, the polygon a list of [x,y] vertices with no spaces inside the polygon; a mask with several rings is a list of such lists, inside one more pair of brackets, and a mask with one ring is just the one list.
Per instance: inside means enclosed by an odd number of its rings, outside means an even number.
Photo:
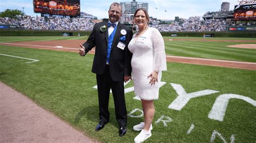
[{"label": "large lit video board screen at the upper left", "polygon": [[33,6],[35,13],[80,16],[80,0],[33,0]]}]

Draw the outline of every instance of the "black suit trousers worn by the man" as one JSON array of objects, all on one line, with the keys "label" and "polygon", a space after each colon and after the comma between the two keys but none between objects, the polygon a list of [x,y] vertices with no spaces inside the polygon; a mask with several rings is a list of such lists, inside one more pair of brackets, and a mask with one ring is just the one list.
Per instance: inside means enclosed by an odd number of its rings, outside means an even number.
[{"label": "black suit trousers worn by the man", "polygon": [[124,97],[124,81],[115,82],[112,80],[109,65],[106,65],[102,75],[96,75],[98,86],[99,119],[105,124],[109,122],[109,95],[112,90],[114,99],[114,111],[120,126],[127,124],[127,112]]}]

